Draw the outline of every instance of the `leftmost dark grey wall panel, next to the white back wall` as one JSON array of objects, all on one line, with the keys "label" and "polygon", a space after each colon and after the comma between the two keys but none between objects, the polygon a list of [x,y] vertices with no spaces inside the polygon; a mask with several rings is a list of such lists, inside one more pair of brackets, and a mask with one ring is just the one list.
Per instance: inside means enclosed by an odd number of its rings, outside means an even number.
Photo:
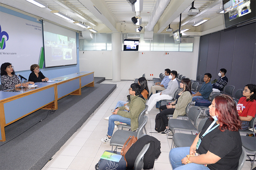
[{"label": "leftmost dark grey wall panel, next to the white back wall", "polygon": [[200,39],[200,53],[197,75],[206,73],[207,55],[208,55],[209,35],[202,36]]}]

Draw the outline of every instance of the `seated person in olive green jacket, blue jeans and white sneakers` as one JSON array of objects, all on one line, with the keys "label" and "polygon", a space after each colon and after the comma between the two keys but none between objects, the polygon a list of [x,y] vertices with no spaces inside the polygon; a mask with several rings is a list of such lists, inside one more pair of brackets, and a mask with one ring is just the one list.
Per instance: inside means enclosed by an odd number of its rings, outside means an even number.
[{"label": "seated person in olive green jacket, blue jeans and white sneakers", "polygon": [[[126,106],[118,107],[108,119],[107,135],[101,139],[102,143],[110,141],[115,128],[115,121],[126,123],[131,126],[131,130],[135,131],[138,128],[138,117],[141,111],[145,109],[145,99],[140,94],[141,87],[138,83],[131,84],[129,94],[127,96],[129,103]],[[127,112],[128,111],[128,112]]]}]

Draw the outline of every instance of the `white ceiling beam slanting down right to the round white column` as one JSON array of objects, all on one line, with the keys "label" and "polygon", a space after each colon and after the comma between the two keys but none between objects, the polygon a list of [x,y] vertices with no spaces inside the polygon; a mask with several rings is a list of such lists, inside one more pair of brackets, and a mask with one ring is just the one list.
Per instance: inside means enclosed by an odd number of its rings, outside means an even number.
[{"label": "white ceiling beam slanting down right to the round white column", "polygon": [[99,18],[111,31],[117,32],[117,20],[105,0],[79,0],[79,2]]}]

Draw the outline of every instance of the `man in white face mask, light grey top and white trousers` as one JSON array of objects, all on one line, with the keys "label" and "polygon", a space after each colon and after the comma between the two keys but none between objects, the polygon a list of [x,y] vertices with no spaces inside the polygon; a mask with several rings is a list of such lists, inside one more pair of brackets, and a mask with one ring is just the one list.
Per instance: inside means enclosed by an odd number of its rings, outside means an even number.
[{"label": "man in white face mask, light grey top and white trousers", "polygon": [[160,93],[153,94],[146,105],[149,106],[148,110],[146,111],[146,114],[155,106],[156,102],[166,99],[166,100],[172,100],[174,97],[174,93],[178,90],[178,81],[176,79],[177,71],[171,71],[169,75],[169,83],[166,90],[163,90]]}]

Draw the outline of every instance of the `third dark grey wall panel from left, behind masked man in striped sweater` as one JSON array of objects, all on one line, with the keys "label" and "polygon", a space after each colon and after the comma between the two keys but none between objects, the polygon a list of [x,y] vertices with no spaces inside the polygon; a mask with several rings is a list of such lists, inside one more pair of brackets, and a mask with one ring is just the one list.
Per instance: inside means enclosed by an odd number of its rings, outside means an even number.
[{"label": "third dark grey wall panel from left, behind masked man in striped sweater", "polygon": [[[227,70],[226,76],[230,80],[232,60],[235,45],[235,32],[236,28],[231,28],[221,31],[221,41],[219,43],[219,58],[218,58],[218,70],[225,68]],[[214,77],[214,76],[213,76]],[[217,78],[217,74],[216,77]],[[228,82],[229,85],[230,81]]]}]

